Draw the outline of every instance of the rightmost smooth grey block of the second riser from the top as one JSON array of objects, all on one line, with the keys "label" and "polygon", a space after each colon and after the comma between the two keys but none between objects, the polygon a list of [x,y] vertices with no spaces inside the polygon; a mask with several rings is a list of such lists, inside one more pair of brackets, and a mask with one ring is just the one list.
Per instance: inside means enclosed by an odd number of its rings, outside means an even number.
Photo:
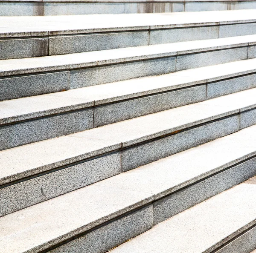
[{"label": "rightmost smooth grey block of the second riser from the top", "polygon": [[256,33],[256,23],[221,25],[219,30],[219,38],[251,35]]}]

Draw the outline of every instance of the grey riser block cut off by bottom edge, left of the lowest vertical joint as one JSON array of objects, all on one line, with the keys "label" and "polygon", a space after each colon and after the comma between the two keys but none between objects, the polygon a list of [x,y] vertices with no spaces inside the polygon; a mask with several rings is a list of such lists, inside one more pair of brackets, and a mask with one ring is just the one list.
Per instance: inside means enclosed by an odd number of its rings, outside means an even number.
[{"label": "grey riser block cut off by bottom edge, left of the lowest vertical joint", "polygon": [[153,225],[153,206],[142,208],[58,247],[50,253],[105,253]]}]

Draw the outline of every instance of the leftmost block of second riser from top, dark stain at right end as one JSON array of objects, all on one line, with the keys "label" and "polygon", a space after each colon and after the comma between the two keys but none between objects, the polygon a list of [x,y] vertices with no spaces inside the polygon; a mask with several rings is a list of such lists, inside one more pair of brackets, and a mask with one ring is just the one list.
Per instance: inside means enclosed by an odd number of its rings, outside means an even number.
[{"label": "leftmost block of second riser from top, dark stain at right end", "polygon": [[46,56],[48,38],[0,40],[0,49],[0,60]]}]

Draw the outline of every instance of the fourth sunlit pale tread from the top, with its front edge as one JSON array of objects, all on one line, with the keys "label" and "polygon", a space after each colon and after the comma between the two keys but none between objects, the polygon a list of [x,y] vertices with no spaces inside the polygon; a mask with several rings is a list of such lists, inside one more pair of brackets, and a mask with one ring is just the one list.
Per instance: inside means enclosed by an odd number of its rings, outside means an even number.
[{"label": "fourth sunlit pale tread from the top, with its front edge", "polygon": [[255,108],[256,88],[0,152],[0,182],[149,141]]}]

